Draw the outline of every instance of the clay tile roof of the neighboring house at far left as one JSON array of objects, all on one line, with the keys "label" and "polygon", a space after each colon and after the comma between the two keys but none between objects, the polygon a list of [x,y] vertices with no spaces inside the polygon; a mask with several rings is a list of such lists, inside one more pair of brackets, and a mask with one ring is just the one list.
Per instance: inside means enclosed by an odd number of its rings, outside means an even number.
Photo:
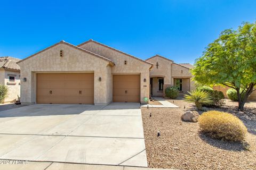
[{"label": "clay tile roof of the neighboring house at far left", "polygon": [[0,57],[0,68],[20,70],[20,66],[17,64],[18,61],[20,61],[19,58]]}]

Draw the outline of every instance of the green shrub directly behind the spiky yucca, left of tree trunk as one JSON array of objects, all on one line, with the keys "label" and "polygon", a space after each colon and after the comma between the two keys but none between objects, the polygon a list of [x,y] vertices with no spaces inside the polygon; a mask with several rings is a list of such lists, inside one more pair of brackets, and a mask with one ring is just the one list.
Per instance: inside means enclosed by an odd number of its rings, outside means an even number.
[{"label": "green shrub directly behind the spiky yucca, left of tree trunk", "polygon": [[212,104],[203,104],[203,107],[215,107],[215,106],[223,106],[225,104],[225,96],[223,94],[223,92],[221,91],[217,91],[217,90],[213,90],[211,87],[209,86],[200,86],[196,88],[197,90],[203,90],[206,92],[209,92],[209,94],[211,94],[213,103]]}]

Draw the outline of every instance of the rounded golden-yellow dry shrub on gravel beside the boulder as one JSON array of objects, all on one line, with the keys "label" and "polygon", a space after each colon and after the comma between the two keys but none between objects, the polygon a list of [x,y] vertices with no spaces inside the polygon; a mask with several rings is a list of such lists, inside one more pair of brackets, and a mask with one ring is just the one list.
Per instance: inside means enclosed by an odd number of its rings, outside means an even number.
[{"label": "rounded golden-yellow dry shrub on gravel beside the boulder", "polygon": [[199,119],[201,132],[221,140],[244,141],[247,129],[238,117],[219,111],[203,113]]}]

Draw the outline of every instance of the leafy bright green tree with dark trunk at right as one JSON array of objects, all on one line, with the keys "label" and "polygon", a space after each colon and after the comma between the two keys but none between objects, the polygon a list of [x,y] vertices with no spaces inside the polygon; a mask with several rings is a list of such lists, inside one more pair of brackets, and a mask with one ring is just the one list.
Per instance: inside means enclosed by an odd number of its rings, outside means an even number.
[{"label": "leafy bright green tree with dark trunk at right", "polygon": [[192,73],[201,84],[223,84],[235,89],[238,109],[242,111],[256,87],[256,22],[221,32],[196,60]]}]

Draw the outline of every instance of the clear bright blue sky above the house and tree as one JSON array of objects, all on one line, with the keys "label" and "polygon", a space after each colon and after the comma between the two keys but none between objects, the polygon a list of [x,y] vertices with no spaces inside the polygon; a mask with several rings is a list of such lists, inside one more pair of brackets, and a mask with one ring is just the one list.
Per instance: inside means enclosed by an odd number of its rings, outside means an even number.
[{"label": "clear bright blue sky above the house and tree", "polygon": [[243,21],[256,21],[256,1],[1,1],[0,56],[94,39],[142,59],[193,64],[222,30]]}]

